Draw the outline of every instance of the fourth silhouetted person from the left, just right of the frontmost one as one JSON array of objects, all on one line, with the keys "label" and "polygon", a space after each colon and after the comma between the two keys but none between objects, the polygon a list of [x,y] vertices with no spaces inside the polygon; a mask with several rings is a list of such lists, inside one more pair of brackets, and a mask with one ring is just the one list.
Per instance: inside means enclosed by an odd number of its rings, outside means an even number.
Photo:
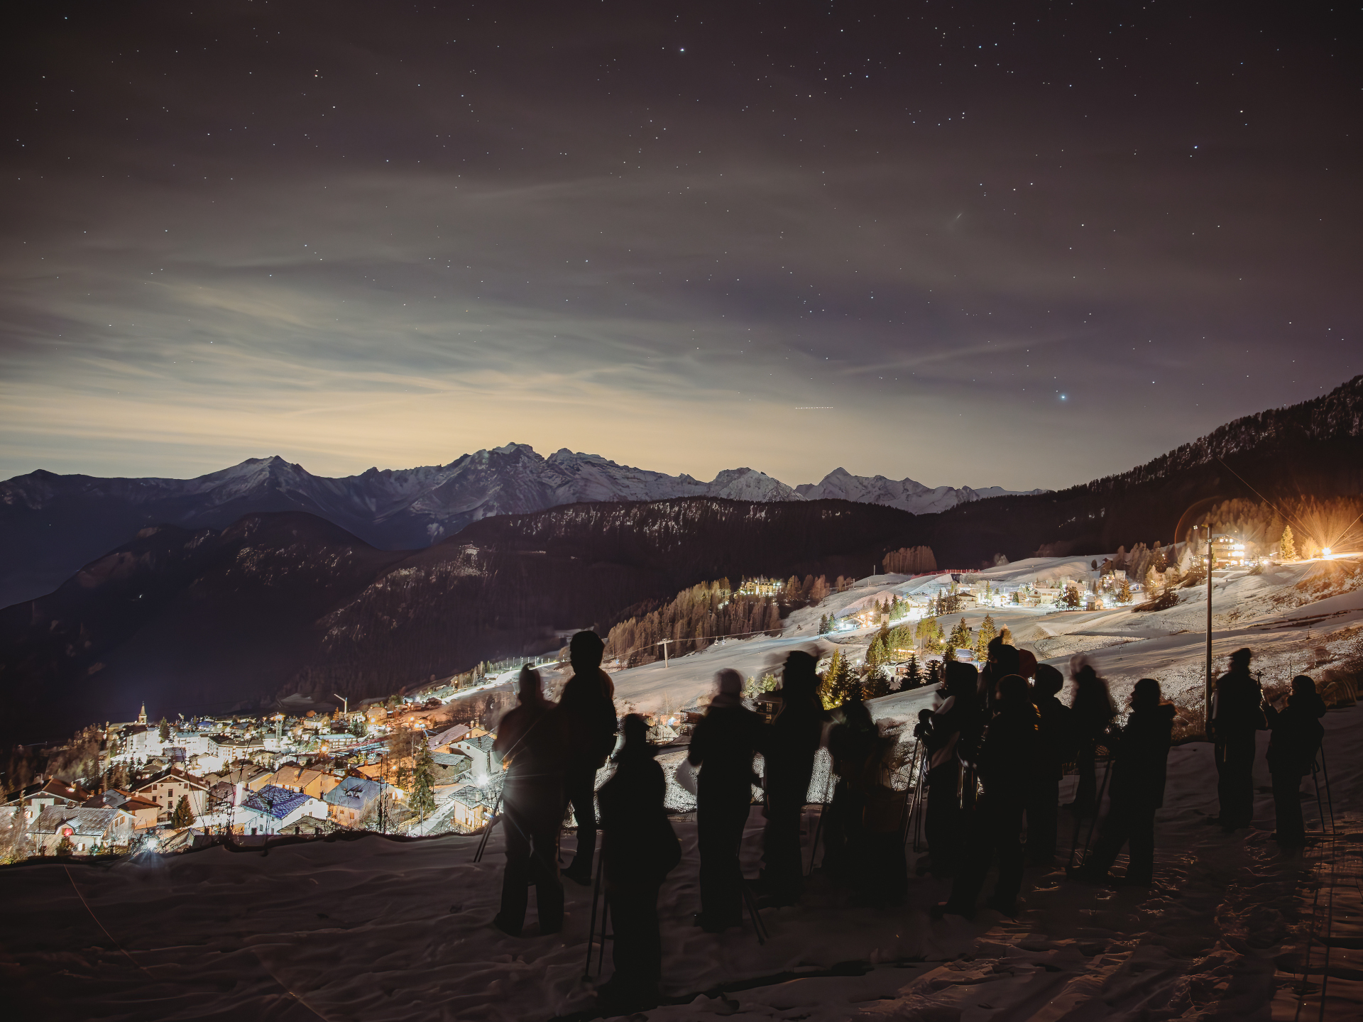
[{"label": "fourth silhouetted person from the left, just right of the frontmost one", "polygon": [[766,748],[766,725],[743,704],[743,676],[725,668],[718,692],[691,733],[687,760],[696,781],[696,845],[701,852],[701,914],[710,933],[743,923],[739,848],[752,805],[752,755]]}]

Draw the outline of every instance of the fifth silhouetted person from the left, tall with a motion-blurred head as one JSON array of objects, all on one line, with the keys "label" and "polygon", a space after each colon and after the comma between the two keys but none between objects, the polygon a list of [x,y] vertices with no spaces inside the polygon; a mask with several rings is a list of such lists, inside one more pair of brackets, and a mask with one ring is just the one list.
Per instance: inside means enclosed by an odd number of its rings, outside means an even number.
[{"label": "fifth silhouetted person from the left, tall with a motion-blurred head", "polygon": [[793,650],[781,672],[781,709],[771,721],[766,758],[766,829],[762,831],[765,905],[795,905],[804,882],[800,816],[810,794],[814,756],[827,715],[819,700],[818,661]]}]

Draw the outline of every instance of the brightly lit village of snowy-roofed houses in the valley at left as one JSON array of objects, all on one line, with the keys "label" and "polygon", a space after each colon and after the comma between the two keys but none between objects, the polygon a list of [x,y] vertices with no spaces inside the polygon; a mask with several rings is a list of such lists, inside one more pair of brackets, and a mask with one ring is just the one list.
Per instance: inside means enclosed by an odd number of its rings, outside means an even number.
[{"label": "brightly lit village of snowy-roofed houses in the valley at left", "polygon": [[433,729],[432,709],[424,699],[372,700],[330,715],[170,725],[149,721],[143,707],[136,721],[105,726],[97,775],[40,775],[5,793],[8,854],[174,850],[224,834],[476,830],[502,781],[496,736],[462,724]]}]

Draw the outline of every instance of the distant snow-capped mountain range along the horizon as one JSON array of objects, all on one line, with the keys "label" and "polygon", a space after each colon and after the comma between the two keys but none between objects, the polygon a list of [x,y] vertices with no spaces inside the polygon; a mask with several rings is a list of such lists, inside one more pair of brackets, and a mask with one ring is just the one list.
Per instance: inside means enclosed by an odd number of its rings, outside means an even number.
[{"label": "distant snow-capped mountain range along the horizon", "polygon": [[0,484],[0,606],[50,593],[80,566],[149,525],[224,529],[254,512],[307,511],[379,549],[417,549],[483,518],[582,501],[836,497],[932,514],[1007,493],[998,486],[934,489],[909,478],[867,478],[844,469],[795,488],[747,467],[725,469],[702,482],[567,448],[544,458],[518,443],[466,454],[448,465],[369,469],[343,478],[313,476],[279,456],[251,458],[192,480],[38,470]]}]

